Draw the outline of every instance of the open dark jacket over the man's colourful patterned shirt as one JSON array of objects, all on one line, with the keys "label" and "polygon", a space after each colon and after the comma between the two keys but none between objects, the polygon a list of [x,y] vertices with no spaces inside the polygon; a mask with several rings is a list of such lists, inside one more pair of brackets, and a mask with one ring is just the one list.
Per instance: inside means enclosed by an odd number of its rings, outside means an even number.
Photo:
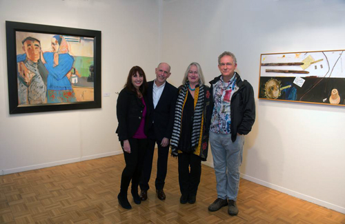
[{"label": "open dark jacket over the man's colourful patterned shirt", "polygon": [[[239,88],[234,92],[230,101],[230,116],[231,116],[231,140],[236,141],[237,133],[238,134],[248,134],[252,130],[254,121],[255,121],[255,99],[254,99],[254,90],[252,85],[248,81],[242,81],[239,74],[235,72],[236,76],[236,85]],[[219,81],[219,77],[215,77],[213,81],[210,81],[210,92],[212,96],[212,108],[215,105],[213,99],[213,88],[214,84]],[[211,115],[212,116],[212,115]]]}]

